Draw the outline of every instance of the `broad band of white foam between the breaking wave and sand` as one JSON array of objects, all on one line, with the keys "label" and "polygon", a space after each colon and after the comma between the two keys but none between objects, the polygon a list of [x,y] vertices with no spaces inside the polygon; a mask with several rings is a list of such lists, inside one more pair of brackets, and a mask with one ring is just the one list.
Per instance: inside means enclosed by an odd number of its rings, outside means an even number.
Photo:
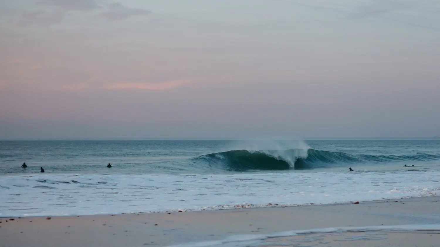
[{"label": "broad band of white foam between the breaking wave and sand", "polygon": [[[70,183],[59,183],[63,181]],[[436,171],[2,176],[0,216],[199,211],[427,197],[440,195],[439,181]]]}]

